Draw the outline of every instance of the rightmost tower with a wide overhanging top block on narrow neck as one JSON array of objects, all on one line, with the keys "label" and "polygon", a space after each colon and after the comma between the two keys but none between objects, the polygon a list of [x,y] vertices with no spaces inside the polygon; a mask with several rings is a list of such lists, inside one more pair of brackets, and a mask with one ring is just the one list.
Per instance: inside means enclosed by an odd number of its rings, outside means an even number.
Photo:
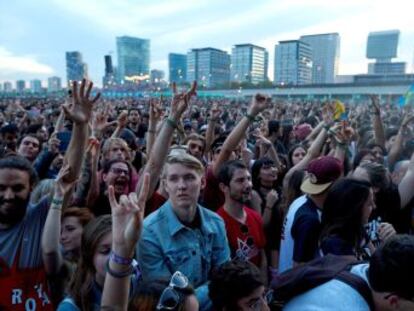
[{"label": "rightmost tower with a wide overhanging top block on narrow neck", "polygon": [[392,62],[397,57],[399,30],[370,32],[367,40],[367,58],[375,59],[368,64],[368,73],[377,75],[404,74],[405,62]]}]

